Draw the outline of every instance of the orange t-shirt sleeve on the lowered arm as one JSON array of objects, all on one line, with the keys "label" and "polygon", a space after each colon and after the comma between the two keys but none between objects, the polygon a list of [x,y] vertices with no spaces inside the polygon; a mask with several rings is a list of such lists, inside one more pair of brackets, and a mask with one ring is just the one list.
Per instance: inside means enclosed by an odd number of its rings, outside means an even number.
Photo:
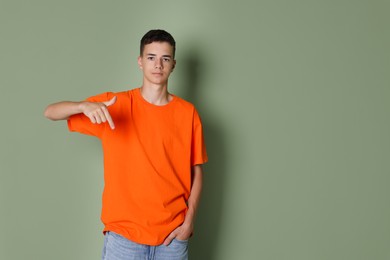
[{"label": "orange t-shirt sleeve on the lowered arm", "polygon": [[206,152],[206,144],[203,134],[203,126],[200,116],[196,110],[194,110],[194,119],[193,119],[193,135],[192,135],[192,158],[191,164],[204,164],[208,161],[208,156]]}]

